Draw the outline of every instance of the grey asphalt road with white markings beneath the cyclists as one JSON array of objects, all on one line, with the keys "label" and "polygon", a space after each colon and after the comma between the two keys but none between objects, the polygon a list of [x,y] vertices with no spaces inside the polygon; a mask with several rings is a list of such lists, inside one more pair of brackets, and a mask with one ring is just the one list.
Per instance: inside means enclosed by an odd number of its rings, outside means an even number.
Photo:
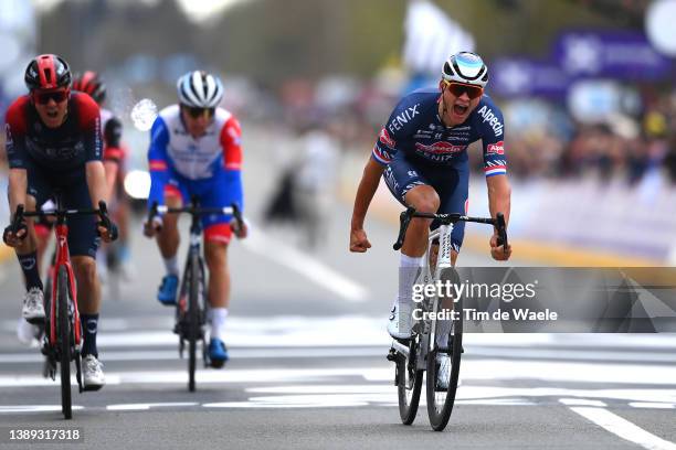
[{"label": "grey asphalt road with white markings beneath the cyclists", "polygon": [[[270,192],[261,181],[273,168],[251,160],[256,218]],[[61,416],[57,383],[41,375],[38,349],[15,338],[22,289],[18,265],[6,261],[0,447],[25,447],[10,443],[12,429],[77,428],[82,447],[42,447],[676,449],[676,340],[668,335],[467,335],[447,429],[431,431],[424,406],[413,426],[401,425],[384,357],[395,229],[370,221],[373,248],[350,255],[348,224],[349,210],[337,202],[319,251],[299,250],[302,238],[256,222],[251,239],[232,245],[231,361],[220,371],[200,367],[196,393],[187,389],[172,311],[154,299],[159,255],[137,233],[134,280],[106,287],[98,346],[107,385],[74,393],[72,421]],[[466,253],[460,262],[489,260]]]}]

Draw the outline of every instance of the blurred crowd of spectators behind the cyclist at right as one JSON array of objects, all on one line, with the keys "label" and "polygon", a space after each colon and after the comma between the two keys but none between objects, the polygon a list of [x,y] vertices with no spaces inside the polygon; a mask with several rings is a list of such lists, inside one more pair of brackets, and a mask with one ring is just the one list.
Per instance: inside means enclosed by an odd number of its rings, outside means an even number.
[{"label": "blurred crowd of spectators behind the cyclist at right", "polygon": [[659,172],[676,183],[676,90],[644,95],[641,105],[634,116],[617,115],[598,124],[575,121],[560,110],[548,127],[508,128],[510,174],[594,176],[632,185]]}]

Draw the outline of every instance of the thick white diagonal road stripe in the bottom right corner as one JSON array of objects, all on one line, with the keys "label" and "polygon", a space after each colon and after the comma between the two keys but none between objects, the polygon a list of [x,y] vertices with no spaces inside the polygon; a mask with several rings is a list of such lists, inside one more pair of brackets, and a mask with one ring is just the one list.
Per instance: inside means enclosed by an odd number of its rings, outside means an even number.
[{"label": "thick white diagonal road stripe in the bottom right corner", "polygon": [[676,450],[676,444],[647,432],[643,428],[603,408],[572,407],[572,411],[605,428],[620,438],[649,450]]}]

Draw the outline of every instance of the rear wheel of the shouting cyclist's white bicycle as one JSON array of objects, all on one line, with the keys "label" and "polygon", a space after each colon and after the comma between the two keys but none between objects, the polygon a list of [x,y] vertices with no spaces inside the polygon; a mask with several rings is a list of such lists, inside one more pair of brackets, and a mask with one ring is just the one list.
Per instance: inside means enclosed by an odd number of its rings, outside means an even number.
[{"label": "rear wheel of the shouting cyclist's white bicycle", "polygon": [[397,392],[399,394],[399,416],[401,417],[401,422],[403,425],[413,424],[418,414],[418,406],[420,404],[423,371],[415,367],[419,340],[419,336],[411,340],[411,343],[409,344],[409,357],[398,354],[395,365]]}]

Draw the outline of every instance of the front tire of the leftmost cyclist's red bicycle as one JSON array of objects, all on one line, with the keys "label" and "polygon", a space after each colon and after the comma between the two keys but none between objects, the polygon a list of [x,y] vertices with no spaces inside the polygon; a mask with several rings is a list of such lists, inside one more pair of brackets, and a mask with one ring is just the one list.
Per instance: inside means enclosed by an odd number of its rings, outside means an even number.
[{"label": "front tire of the leftmost cyclist's red bicycle", "polygon": [[59,352],[61,363],[61,410],[66,419],[73,418],[71,397],[71,319],[68,315],[68,274],[59,268],[56,314],[59,323]]}]

